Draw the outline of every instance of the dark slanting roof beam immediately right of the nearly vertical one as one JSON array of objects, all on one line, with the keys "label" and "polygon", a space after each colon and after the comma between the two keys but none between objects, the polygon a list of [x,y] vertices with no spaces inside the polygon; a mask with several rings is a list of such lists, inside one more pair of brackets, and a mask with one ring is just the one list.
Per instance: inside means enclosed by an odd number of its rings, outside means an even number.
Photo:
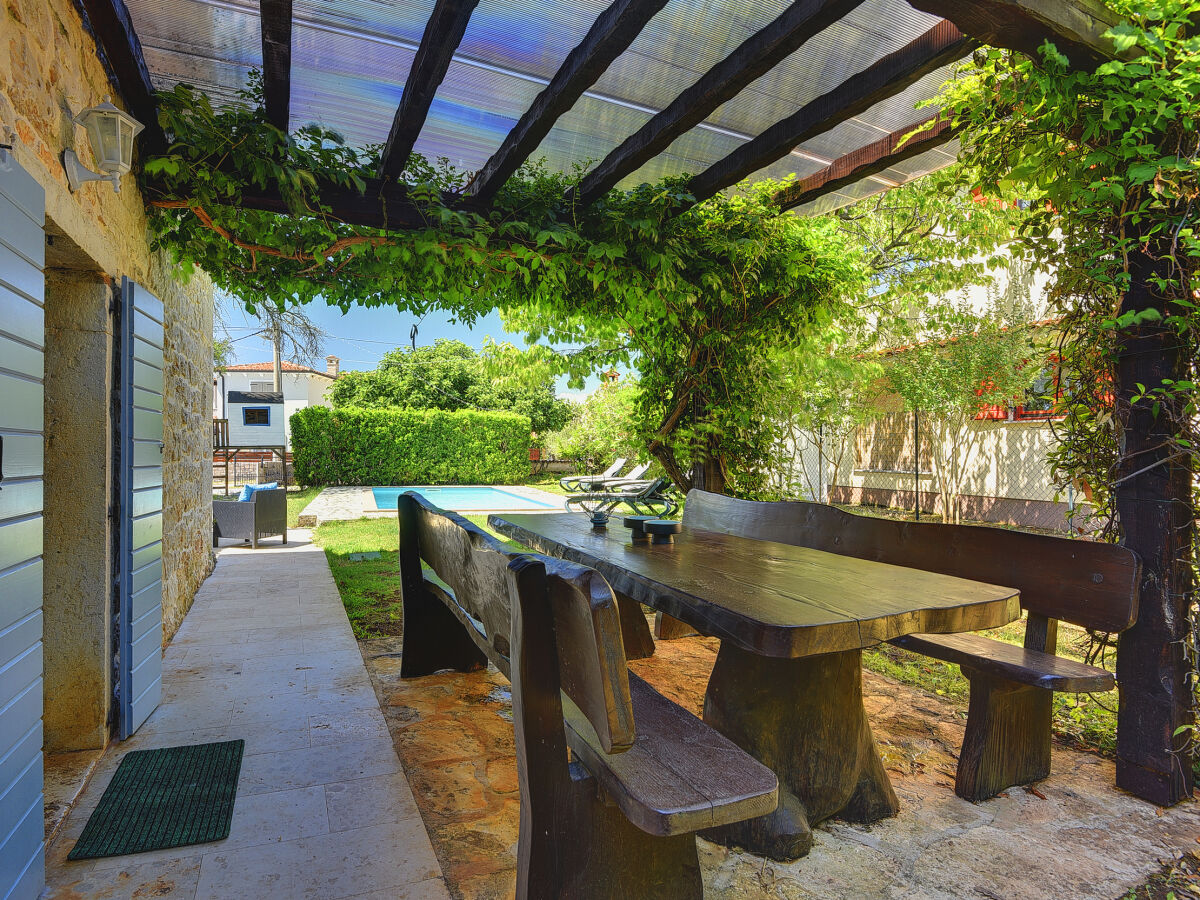
[{"label": "dark slanting roof beam immediately right of the nearly vertical one", "polygon": [[430,114],[433,95],[446,77],[454,52],[458,49],[470,14],[479,0],[437,0],[425,25],[421,43],[413,56],[413,67],[404,82],[404,92],[391,121],[391,132],[379,158],[379,176],[396,179],[408,164],[416,137]]}]

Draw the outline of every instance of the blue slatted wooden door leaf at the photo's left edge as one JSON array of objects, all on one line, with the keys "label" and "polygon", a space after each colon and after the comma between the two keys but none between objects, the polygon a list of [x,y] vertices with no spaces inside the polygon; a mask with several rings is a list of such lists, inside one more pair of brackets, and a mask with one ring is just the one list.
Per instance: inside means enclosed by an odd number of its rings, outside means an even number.
[{"label": "blue slatted wooden door leaf at the photo's left edge", "polygon": [[46,199],[0,150],[0,900],[42,890]]}]

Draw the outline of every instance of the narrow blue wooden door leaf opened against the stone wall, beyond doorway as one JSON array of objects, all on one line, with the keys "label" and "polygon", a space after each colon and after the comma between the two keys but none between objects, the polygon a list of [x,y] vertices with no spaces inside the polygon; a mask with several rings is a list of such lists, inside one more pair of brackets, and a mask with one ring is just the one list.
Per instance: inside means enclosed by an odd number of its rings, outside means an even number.
[{"label": "narrow blue wooden door leaf opened against the stone wall, beyond doorway", "polygon": [[121,283],[118,724],[124,740],[162,695],[162,302]]}]

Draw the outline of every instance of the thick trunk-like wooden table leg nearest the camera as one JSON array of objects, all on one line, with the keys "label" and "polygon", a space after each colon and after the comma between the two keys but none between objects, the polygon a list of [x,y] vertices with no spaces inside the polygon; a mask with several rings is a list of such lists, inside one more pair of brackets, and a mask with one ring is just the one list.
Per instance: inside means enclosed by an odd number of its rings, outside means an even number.
[{"label": "thick trunk-like wooden table leg nearest the camera", "polygon": [[773,814],[710,829],[709,840],[797,859],[818,822],[875,822],[900,809],[863,709],[862,650],[772,659],[724,641],[704,721],[779,776]]}]

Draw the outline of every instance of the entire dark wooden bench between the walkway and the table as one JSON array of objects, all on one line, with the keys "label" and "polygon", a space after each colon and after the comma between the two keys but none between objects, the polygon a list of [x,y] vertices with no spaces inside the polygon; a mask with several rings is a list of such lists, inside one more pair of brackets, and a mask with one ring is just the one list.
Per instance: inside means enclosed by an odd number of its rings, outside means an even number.
[{"label": "entire dark wooden bench between the walkway and the table", "polygon": [[774,773],[628,671],[599,572],[396,506],[401,676],[491,661],[512,683],[516,896],[702,898],[695,832],[774,810]]}]

